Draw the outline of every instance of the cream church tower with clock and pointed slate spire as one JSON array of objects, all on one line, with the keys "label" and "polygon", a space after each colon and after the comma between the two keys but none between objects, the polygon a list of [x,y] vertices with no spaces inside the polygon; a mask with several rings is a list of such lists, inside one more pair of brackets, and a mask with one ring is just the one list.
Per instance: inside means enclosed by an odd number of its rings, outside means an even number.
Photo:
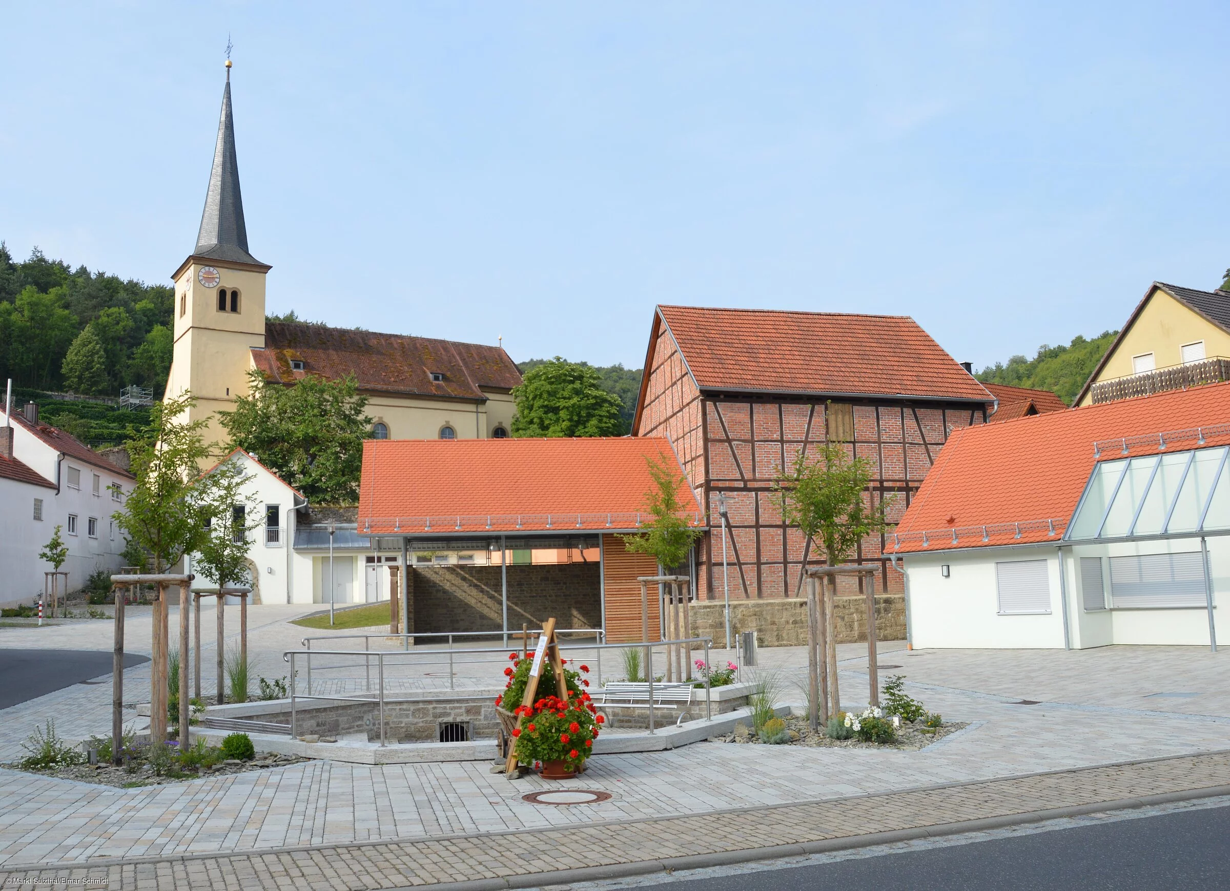
[{"label": "cream church tower with clock and pointed slate spire", "polygon": [[188,418],[208,418],[205,441],[219,442],[228,438],[215,413],[229,410],[236,396],[247,394],[251,350],[264,347],[264,275],[271,269],[247,249],[230,69],[228,59],[218,143],[197,246],[172,275],[175,351],[166,383],[167,397],[184,393],[197,397]]}]

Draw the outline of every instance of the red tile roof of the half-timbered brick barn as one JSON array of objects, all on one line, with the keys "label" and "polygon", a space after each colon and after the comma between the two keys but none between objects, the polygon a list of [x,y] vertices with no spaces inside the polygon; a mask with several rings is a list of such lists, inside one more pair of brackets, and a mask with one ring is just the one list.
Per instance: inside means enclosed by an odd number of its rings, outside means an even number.
[{"label": "red tile roof of the half-timbered brick barn", "polygon": [[991,402],[909,316],[659,306],[701,390]]}]

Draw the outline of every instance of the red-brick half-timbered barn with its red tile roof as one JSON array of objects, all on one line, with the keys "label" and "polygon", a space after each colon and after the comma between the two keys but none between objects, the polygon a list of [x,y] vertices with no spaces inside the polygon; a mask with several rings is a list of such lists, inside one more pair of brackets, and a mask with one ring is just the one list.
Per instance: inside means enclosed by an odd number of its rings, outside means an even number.
[{"label": "red-brick half-timbered barn with its red tile roof", "polygon": [[[984,424],[994,403],[907,316],[659,306],[645,369],[633,434],[670,441],[708,510],[701,600],[727,586],[731,600],[795,597],[804,563],[823,564],[772,492],[808,445],[870,460],[871,498],[892,497],[899,519],[948,434]],[[863,541],[856,559],[878,562],[879,590],[899,591],[883,544]]]}]

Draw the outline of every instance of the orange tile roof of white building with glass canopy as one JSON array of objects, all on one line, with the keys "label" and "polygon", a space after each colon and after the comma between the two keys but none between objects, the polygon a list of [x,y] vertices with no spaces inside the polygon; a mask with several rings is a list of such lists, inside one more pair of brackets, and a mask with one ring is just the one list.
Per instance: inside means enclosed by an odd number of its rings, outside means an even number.
[{"label": "orange tile roof of white building with glass canopy", "polygon": [[[1146,455],[1157,451],[1157,434],[1191,430],[1182,440],[1172,439],[1170,447],[1192,449],[1196,428],[1228,419],[1230,383],[1214,383],[954,430],[897,526],[895,546],[891,536],[887,549],[1058,542],[1093,465],[1122,455],[1118,447],[1103,446],[1095,457],[1096,441],[1127,438],[1130,453]],[[1133,436],[1144,439],[1133,442]],[[1205,440],[1221,445],[1230,434]],[[998,527],[988,530],[985,542],[983,526]]]}]

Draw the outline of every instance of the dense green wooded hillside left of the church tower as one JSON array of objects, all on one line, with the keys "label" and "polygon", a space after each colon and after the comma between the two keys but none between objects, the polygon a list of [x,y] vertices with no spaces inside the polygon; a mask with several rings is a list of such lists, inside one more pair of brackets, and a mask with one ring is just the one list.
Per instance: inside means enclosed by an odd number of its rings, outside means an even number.
[{"label": "dense green wooded hillside left of the church tower", "polygon": [[[0,377],[12,377],[18,387],[58,390],[65,380],[69,349],[89,328],[103,354],[98,392],[118,394],[121,387],[139,383],[160,393],[166,372],[139,360],[137,353],[156,327],[166,332],[170,347],[173,304],[171,288],[125,281],[85,267],[74,270],[38,248],[26,262],[15,263],[0,242]],[[91,374],[90,380],[92,387],[97,379]]]}]

